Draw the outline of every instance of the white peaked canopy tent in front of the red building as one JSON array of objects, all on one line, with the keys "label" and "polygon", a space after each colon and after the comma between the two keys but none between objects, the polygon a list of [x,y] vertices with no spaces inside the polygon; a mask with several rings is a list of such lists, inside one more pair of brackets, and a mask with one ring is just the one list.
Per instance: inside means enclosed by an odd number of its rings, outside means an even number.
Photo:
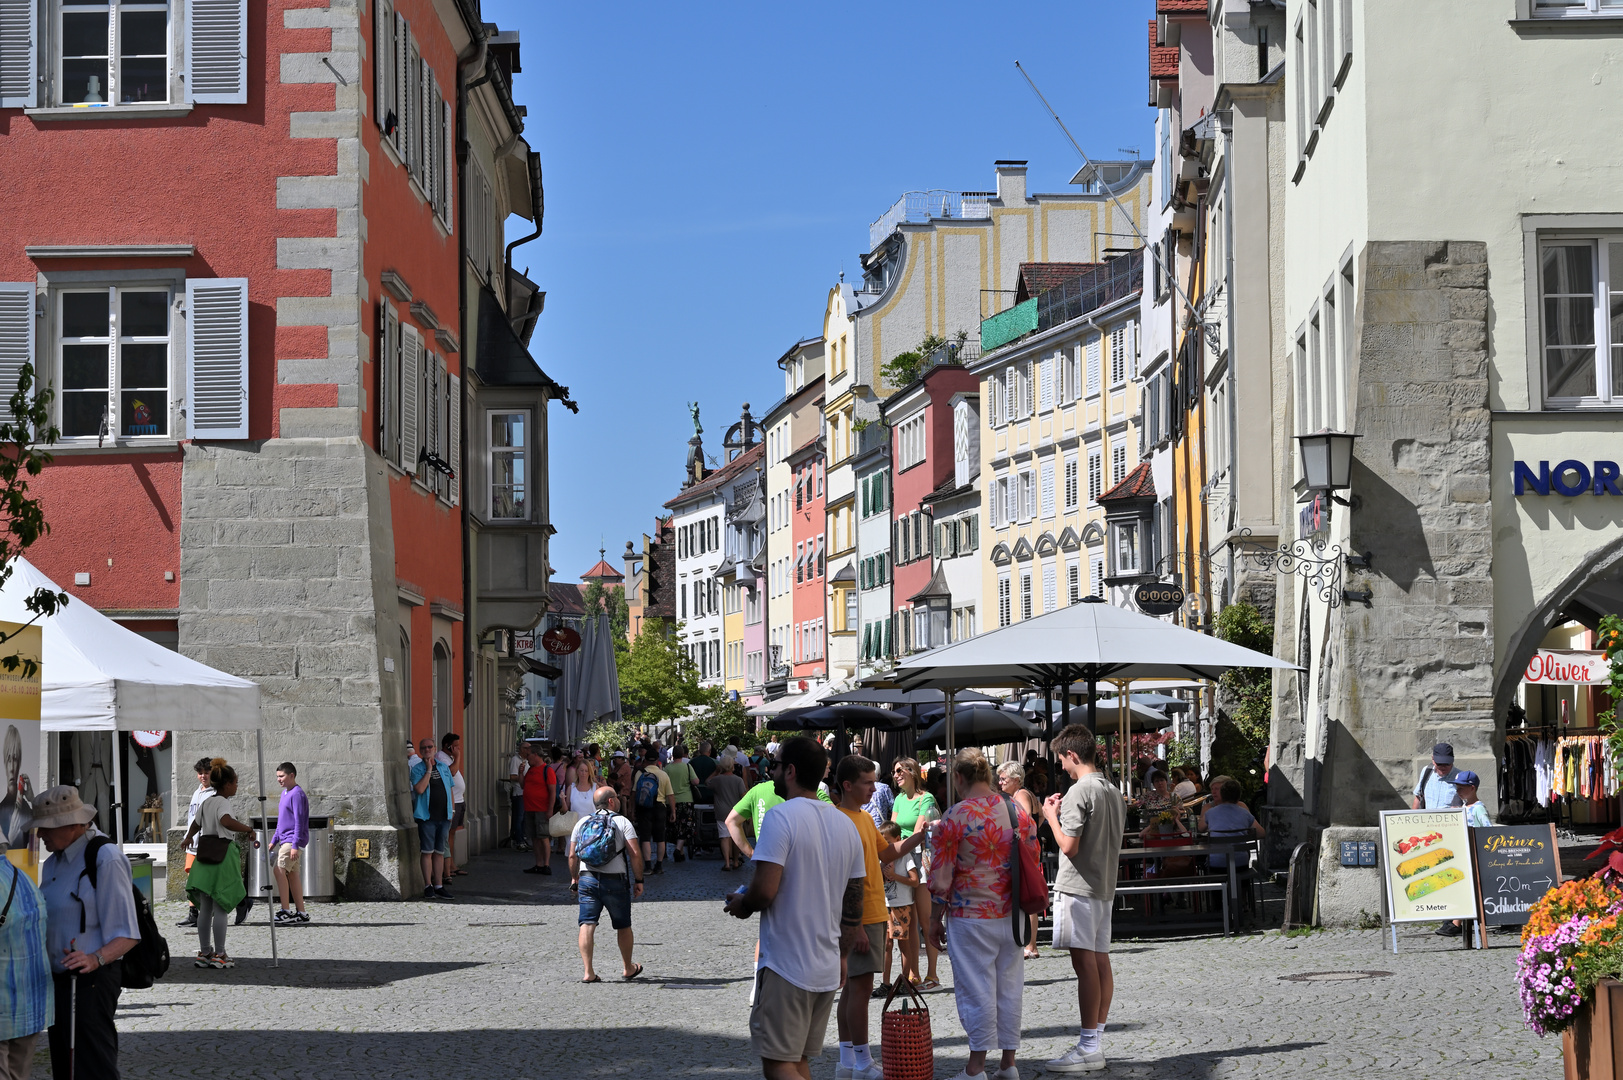
[{"label": "white peaked canopy tent in front of the red building", "polygon": [[[11,577],[0,588],[0,620],[37,619],[41,627],[41,728],[47,732],[252,731],[260,767],[260,814],[268,823],[258,684],[164,648],[80,599],[70,599],[54,616],[37,617],[26,599],[41,588],[62,591],[21,555],[11,560]],[[125,791],[120,757],[114,739],[112,823],[122,848],[118,810],[123,809]],[[269,836],[261,836],[263,882],[271,880],[268,843]],[[271,957],[276,957],[274,926]]]}]

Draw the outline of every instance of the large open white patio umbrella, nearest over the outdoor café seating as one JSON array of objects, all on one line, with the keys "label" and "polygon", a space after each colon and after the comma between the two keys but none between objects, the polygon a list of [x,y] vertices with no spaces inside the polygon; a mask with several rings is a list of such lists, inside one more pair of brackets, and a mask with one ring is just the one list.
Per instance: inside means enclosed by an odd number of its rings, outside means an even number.
[{"label": "large open white patio umbrella, nearest over the outdoor caf\u00e9 seating", "polygon": [[[1084,596],[1079,604],[911,656],[896,666],[891,680],[904,690],[1068,687],[1081,680],[1087,684],[1087,700],[1096,702],[1100,679],[1123,685],[1134,679],[1216,680],[1235,667],[1297,671],[1276,656]],[[948,754],[953,752],[951,700],[948,695]],[[1126,710],[1121,711],[1125,721]]]}]

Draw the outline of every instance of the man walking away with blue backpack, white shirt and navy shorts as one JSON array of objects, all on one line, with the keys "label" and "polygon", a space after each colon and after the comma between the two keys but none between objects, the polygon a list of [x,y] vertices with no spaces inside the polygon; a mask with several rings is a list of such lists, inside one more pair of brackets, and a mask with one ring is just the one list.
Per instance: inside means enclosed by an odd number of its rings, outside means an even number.
[{"label": "man walking away with blue backpack, white shirt and navy shorts", "polygon": [[592,970],[592,947],[605,908],[620,944],[620,978],[630,983],[643,974],[643,965],[631,963],[631,900],[643,895],[643,853],[613,788],[599,788],[592,806],[591,817],[575,823],[568,848],[570,883],[579,896],[581,983],[602,983]]}]

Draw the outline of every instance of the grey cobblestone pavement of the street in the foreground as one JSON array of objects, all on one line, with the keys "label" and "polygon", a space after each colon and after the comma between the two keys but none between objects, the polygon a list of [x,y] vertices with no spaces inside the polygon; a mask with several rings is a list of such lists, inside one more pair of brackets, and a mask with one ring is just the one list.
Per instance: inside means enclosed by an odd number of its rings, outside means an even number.
[{"label": "grey cobblestone pavement of the street in the foreground", "polygon": [[[641,981],[618,979],[607,934],[604,983],[583,986],[566,875],[519,874],[529,856],[497,853],[456,879],[453,903],[312,905],[310,926],[232,927],[234,971],[192,966],[195,937],[159,916],[175,966],[118,1010],[125,1077],[258,1080],[755,1077],[747,1002],[755,922],[721,913],[740,880],[716,861],[669,866],[636,906]],[[562,859],[555,859],[562,870]],[[263,918],[265,909],[255,913]],[[1514,939],[1464,952],[1430,927],[1285,939],[1120,940],[1104,1077],[1561,1075],[1558,1039],[1519,1018]],[[1308,973],[1380,973],[1290,981]],[[951,961],[941,974],[951,986]],[[1070,963],[1044,948],[1026,966],[1021,1072],[1074,1041]],[[964,1062],[951,992],[928,997],[936,1075]],[[878,1038],[878,1004],[873,1007]],[[834,1075],[834,1030],[813,1077]],[[41,1054],[44,1072],[45,1054]]]}]

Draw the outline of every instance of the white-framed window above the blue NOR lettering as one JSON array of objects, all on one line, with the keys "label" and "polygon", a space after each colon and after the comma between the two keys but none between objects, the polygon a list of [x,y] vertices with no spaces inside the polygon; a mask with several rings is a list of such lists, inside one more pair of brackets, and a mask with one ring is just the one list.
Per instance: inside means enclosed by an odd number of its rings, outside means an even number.
[{"label": "white-framed window above the blue NOR lettering", "polygon": [[1623,403],[1623,234],[1540,244],[1539,291],[1545,404]]}]

